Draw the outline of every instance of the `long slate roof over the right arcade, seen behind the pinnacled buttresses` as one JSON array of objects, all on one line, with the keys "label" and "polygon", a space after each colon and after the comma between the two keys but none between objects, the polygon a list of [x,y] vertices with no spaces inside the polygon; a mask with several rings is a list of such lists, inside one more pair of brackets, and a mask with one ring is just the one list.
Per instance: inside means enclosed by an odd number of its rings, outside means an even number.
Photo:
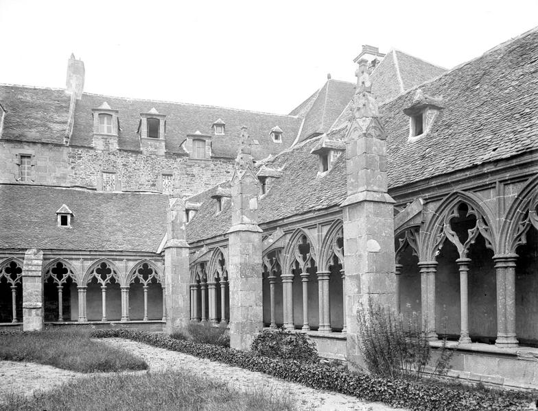
[{"label": "long slate roof over the right arcade, seen behind the pinnacled buttresses", "polygon": [[[409,118],[403,114],[416,89],[380,106],[387,133],[390,190],[435,175],[468,169],[483,162],[509,158],[526,151],[538,162],[538,29],[506,42],[484,55],[420,86],[426,95],[443,97],[445,108],[428,134],[409,142]],[[351,112],[327,133],[344,138]],[[333,169],[316,178],[318,159],[310,151],[318,136],[263,162],[281,168],[268,193],[259,199],[259,222],[304,214],[339,205],[347,195],[345,154]],[[261,164],[259,164],[261,165]],[[224,234],[231,224],[229,206],[215,215],[209,193],[187,226],[189,242]]]}]

